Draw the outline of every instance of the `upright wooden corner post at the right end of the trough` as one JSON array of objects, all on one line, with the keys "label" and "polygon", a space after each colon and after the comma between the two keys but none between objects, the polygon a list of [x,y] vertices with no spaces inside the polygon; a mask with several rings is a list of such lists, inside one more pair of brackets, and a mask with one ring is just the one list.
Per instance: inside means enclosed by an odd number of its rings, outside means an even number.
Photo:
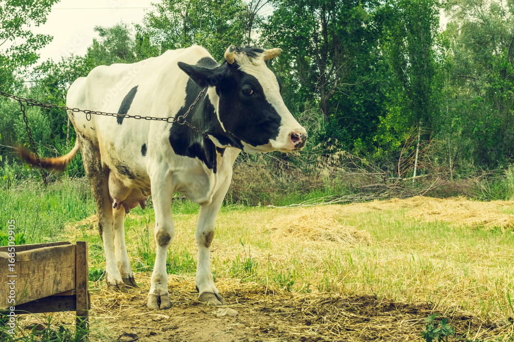
[{"label": "upright wooden corner post at the right end of the trough", "polygon": [[[75,268],[75,289],[77,296],[77,331],[86,332],[89,325],[89,302],[88,289],[88,271],[87,271],[87,243],[85,241],[77,241],[76,243],[76,268]],[[86,340],[84,337],[82,340]]]}]

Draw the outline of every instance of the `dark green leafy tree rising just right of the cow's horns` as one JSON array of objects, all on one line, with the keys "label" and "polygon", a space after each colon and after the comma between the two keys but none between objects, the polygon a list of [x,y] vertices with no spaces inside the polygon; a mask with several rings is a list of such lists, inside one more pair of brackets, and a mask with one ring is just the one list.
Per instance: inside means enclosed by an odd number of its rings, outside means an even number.
[{"label": "dark green leafy tree rising just right of the cow's horns", "polygon": [[335,0],[281,0],[264,28],[269,45],[280,46],[296,77],[319,97],[326,121],[329,101],[352,73],[362,47],[367,47],[371,2]]}]

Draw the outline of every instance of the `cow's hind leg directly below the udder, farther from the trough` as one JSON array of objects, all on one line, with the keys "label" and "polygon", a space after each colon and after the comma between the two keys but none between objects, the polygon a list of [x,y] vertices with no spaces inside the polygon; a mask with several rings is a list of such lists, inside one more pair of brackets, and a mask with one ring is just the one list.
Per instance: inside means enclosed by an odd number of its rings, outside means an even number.
[{"label": "cow's hind leg directly below the udder, farther from the trough", "polygon": [[130,287],[137,287],[134,280],[134,274],[128,260],[127,247],[125,246],[125,210],[113,209],[114,215],[114,253],[116,255],[116,263],[121,273],[123,283]]}]

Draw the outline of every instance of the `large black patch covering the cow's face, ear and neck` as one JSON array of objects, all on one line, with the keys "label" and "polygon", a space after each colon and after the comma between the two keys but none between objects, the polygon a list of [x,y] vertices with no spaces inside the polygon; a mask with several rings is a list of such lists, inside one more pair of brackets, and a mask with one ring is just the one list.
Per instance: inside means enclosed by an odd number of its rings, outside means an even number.
[{"label": "large black patch covering the cow's face, ear and neck", "polygon": [[[237,51],[246,53],[250,58],[264,52],[255,47],[239,48]],[[190,79],[186,86],[186,104],[178,111],[177,116],[186,113],[202,88],[214,86],[219,96],[218,113],[214,112],[208,96],[205,95],[186,119],[200,132],[214,137],[223,146],[239,149],[243,149],[242,141],[258,147],[267,145],[271,139],[278,137],[281,116],[266,98],[260,81],[242,71],[237,63],[224,62],[218,65],[211,58],[203,58],[197,65],[178,62],[178,66]],[[217,120],[218,117],[224,129]],[[199,134],[193,136],[191,129],[178,126],[175,123],[170,129],[170,143],[175,153],[197,157],[211,167],[214,153],[209,151],[215,149],[208,145],[212,145],[212,141],[204,141]]]}]

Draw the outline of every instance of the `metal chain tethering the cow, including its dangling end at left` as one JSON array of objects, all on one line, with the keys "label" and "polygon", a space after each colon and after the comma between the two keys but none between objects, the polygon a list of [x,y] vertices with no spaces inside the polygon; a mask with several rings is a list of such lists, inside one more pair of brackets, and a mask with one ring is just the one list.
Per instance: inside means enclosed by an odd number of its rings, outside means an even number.
[{"label": "metal chain tethering the cow, including its dangling end at left", "polygon": [[153,117],[153,116],[141,116],[141,115],[130,115],[130,114],[124,114],[123,115],[123,114],[118,114],[118,113],[105,113],[105,112],[98,112],[98,111],[81,110],[81,109],[78,109],[78,108],[70,108],[70,107],[67,107],[67,106],[59,106],[57,104],[52,104],[52,103],[44,103],[44,102],[41,102],[41,101],[38,101],[38,100],[34,100],[34,99],[25,99],[23,97],[19,97],[19,96],[16,96],[16,95],[11,95],[11,94],[8,94],[8,93],[4,93],[2,91],[0,91],[0,95],[3,95],[3,96],[8,97],[8,98],[11,98],[11,99],[13,99],[15,101],[18,101],[20,103],[20,107],[21,107],[21,110],[22,110],[22,113],[23,113],[23,121],[25,121],[26,130],[27,130],[27,133],[28,133],[29,139],[30,139],[30,144],[32,145],[32,150],[34,151],[35,158],[38,161],[38,164],[39,164],[39,166],[41,168],[41,176],[43,177],[43,182],[45,182],[45,186],[47,186],[48,183],[46,181],[46,175],[45,175],[45,173],[43,171],[43,166],[41,165],[41,159],[40,159],[40,157],[38,155],[38,151],[35,148],[35,142],[34,142],[34,139],[32,138],[32,132],[30,131],[30,128],[29,128],[27,115],[25,114],[25,106],[23,105],[23,103],[25,103],[27,106],[38,106],[38,107],[43,107],[43,108],[46,108],[46,109],[61,109],[63,111],[72,111],[74,113],[82,112],[82,113],[86,114],[86,120],[87,121],[91,120],[91,114],[94,114],[94,115],[122,117],[124,119],[132,118],[132,119],[136,119],[136,120],[144,119],[144,120],[154,120],[154,121],[166,121],[168,123],[176,122],[178,124],[185,124],[185,125],[187,125],[194,132],[201,134],[204,138],[209,138],[209,135],[207,135],[204,132],[200,132],[199,129],[197,129],[191,123],[186,121],[186,118],[187,118],[188,114],[193,110],[193,108],[196,105],[196,103],[204,95],[206,89],[207,89],[207,87],[201,89],[201,92],[198,94],[198,96],[193,101],[193,103],[189,106],[188,111],[185,114],[180,115],[180,116],[178,116],[176,118],[174,118],[172,116],[169,116],[167,118],[157,118],[157,117]]}]

